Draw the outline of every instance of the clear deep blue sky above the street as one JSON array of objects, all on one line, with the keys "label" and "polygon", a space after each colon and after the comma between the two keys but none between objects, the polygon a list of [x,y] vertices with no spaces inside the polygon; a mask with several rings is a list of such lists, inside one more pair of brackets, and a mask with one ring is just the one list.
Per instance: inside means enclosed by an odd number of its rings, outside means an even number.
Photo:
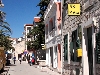
[{"label": "clear deep blue sky above the street", "polygon": [[39,7],[36,5],[40,0],[2,0],[6,13],[6,21],[10,24],[13,34],[12,38],[19,38],[24,31],[24,24],[32,24],[33,18],[37,16]]}]

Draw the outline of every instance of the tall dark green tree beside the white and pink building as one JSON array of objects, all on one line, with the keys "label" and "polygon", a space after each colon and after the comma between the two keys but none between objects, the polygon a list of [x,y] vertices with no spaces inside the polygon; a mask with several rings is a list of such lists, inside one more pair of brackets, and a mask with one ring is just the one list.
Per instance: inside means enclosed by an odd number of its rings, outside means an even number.
[{"label": "tall dark green tree beside the white and pink building", "polygon": [[48,7],[50,0],[40,0],[39,4],[37,6],[40,7],[40,11],[37,14],[37,16],[40,16],[40,22],[37,23],[38,26],[34,27],[29,35],[34,35],[36,36],[36,39],[34,41],[28,42],[32,43],[31,46],[34,49],[40,49],[41,44],[45,43],[45,24],[44,24],[44,13]]}]

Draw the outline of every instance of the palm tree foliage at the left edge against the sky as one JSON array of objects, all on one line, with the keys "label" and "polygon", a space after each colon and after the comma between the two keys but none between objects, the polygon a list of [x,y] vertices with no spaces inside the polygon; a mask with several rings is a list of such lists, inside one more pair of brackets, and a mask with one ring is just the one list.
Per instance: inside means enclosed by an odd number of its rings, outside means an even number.
[{"label": "palm tree foliage at the left edge against the sky", "polygon": [[5,50],[14,49],[11,44],[10,34],[12,33],[10,25],[5,22],[5,13],[0,11],[0,47],[4,47]]}]

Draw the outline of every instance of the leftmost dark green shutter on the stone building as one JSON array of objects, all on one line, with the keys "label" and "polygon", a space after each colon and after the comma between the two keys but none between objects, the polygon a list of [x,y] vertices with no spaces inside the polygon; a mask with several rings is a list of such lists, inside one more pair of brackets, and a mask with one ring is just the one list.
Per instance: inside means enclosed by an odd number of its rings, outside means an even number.
[{"label": "leftmost dark green shutter on the stone building", "polygon": [[64,36],[64,60],[68,59],[68,34]]}]

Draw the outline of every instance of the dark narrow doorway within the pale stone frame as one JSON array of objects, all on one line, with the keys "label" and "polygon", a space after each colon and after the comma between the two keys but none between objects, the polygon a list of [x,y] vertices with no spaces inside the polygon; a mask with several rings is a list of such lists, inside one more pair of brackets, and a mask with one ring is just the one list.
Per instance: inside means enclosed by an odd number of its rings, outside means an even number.
[{"label": "dark narrow doorway within the pale stone frame", "polygon": [[87,29],[89,75],[93,75],[92,27]]}]

